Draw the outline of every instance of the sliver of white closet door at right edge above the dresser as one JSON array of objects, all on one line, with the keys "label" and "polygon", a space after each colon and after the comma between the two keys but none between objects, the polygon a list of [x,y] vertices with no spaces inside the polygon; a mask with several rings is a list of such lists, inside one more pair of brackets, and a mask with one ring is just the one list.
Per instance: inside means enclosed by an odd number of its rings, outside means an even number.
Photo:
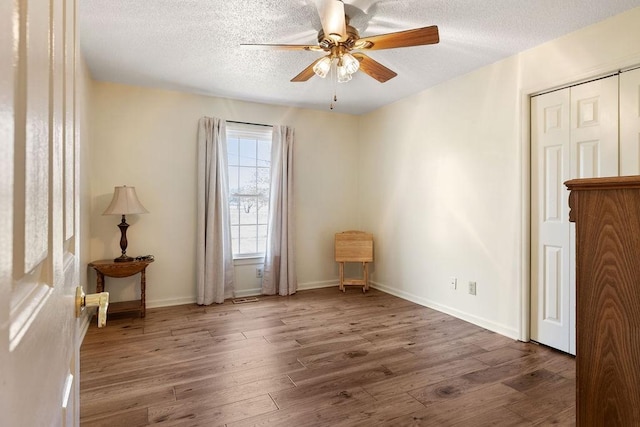
[{"label": "sliver of white closet door at right edge above the dresser", "polygon": [[620,175],[640,175],[640,69],[620,74]]}]

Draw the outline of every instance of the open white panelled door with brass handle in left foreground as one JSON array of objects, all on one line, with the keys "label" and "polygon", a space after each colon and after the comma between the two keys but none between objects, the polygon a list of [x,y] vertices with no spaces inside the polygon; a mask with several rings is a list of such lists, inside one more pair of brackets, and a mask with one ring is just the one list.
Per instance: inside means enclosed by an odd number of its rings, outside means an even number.
[{"label": "open white panelled door with brass handle in left foreground", "polygon": [[78,424],[75,0],[0,5],[0,424]]}]

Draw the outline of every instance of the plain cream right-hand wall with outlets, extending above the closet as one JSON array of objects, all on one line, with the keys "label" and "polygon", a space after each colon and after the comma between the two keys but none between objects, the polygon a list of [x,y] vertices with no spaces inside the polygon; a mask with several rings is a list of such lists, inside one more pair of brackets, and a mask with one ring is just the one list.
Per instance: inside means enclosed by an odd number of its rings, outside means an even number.
[{"label": "plain cream right-hand wall with outlets, extending above the closet", "polygon": [[378,287],[524,337],[528,96],[640,64],[638,22],[640,8],[360,118],[360,223],[376,236]]}]

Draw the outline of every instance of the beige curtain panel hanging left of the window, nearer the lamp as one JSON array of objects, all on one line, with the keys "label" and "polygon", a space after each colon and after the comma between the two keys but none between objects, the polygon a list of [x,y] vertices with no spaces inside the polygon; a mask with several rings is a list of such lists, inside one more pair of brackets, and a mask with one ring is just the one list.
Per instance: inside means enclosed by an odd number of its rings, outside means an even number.
[{"label": "beige curtain panel hanging left of the window, nearer the lamp", "polygon": [[225,121],[198,123],[197,303],[233,297],[233,253]]}]

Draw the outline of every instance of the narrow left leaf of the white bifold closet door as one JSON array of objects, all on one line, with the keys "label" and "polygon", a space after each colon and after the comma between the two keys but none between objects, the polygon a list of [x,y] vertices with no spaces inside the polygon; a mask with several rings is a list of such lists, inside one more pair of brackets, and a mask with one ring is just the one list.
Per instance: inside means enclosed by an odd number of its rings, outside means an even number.
[{"label": "narrow left leaf of the white bifold closet door", "polygon": [[569,351],[569,89],[531,100],[531,339]]}]

